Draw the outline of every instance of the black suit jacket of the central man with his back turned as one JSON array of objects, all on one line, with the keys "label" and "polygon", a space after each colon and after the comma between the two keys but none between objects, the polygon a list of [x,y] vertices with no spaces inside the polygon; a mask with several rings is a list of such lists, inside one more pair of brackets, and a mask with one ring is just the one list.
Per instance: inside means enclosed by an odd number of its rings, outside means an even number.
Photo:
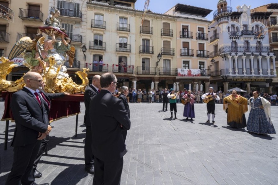
[{"label": "black suit jacket of the central man with his back turned", "polygon": [[102,161],[122,158],[127,152],[122,129],[130,129],[130,120],[122,100],[107,90],[101,90],[90,102],[90,119],[94,156]]}]

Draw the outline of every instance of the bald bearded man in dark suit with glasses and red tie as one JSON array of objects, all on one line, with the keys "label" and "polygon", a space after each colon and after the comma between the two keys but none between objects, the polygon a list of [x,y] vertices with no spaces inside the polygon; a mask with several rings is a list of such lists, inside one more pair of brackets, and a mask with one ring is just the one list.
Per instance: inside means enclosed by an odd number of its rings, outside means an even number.
[{"label": "bald bearded man in dark suit with glasses and red tie", "polygon": [[27,72],[23,79],[26,86],[12,95],[10,105],[16,127],[11,144],[14,146],[14,162],[6,185],[37,185],[33,164],[41,140],[51,131],[47,110],[36,92],[42,89],[43,77],[37,72]]}]

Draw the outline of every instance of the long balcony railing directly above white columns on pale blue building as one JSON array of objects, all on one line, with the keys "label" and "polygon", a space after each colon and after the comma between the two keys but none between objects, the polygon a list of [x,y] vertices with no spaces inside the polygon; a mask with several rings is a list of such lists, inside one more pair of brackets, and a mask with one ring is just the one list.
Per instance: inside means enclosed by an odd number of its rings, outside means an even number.
[{"label": "long balcony railing directly above white columns on pale blue building", "polygon": [[230,52],[236,52],[236,53],[271,53],[273,52],[272,47],[232,47],[232,46],[225,46],[219,49],[219,54],[221,53],[230,53]]}]

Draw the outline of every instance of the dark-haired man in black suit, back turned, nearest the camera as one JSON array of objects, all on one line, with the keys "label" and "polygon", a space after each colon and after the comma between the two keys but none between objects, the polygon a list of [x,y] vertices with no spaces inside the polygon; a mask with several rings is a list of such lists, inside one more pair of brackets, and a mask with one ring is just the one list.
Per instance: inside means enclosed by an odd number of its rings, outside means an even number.
[{"label": "dark-haired man in black suit, back turned, nearest the camera", "polygon": [[130,120],[122,100],[114,97],[117,78],[113,73],[100,77],[101,91],[90,102],[93,185],[118,185],[121,182],[126,147],[122,129],[130,129]]}]

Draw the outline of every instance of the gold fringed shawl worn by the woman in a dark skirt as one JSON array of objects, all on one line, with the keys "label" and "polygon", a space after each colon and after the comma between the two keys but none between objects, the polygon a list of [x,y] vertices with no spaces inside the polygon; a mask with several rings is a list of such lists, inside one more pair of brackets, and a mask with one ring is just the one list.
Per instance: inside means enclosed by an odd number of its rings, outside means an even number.
[{"label": "gold fringed shawl worn by the woman in a dark skirt", "polygon": [[[228,105],[227,103],[231,104]],[[242,115],[248,111],[247,99],[240,95],[233,97],[231,94],[223,99],[223,109],[226,110],[227,108],[227,122],[235,121],[236,123],[241,123]]]}]

